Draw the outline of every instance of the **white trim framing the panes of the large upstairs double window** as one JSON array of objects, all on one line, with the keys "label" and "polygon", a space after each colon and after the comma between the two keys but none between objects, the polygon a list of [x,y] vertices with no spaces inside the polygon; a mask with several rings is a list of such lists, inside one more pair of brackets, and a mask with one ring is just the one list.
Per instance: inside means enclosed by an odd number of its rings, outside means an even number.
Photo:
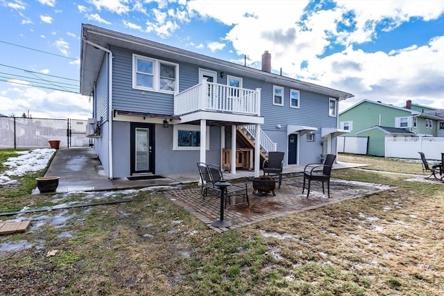
[{"label": "white trim framing the panes of the large upstairs double window", "polygon": [[[148,62],[153,62],[153,87],[144,87],[137,85],[137,60],[145,60]],[[160,64],[169,64],[171,66],[175,67],[175,74],[176,77],[175,83],[174,83],[174,90],[166,90],[166,89],[160,89]],[[141,89],[141,90],[147,90],[151,92],[162,92],[165,94],[177,94],[179,92],[179,64],[175,62],[167,62],[165,60],[158,60],[155,58],[149,58],[144,55],[137,55],[133,53],[133,89]]]}]

